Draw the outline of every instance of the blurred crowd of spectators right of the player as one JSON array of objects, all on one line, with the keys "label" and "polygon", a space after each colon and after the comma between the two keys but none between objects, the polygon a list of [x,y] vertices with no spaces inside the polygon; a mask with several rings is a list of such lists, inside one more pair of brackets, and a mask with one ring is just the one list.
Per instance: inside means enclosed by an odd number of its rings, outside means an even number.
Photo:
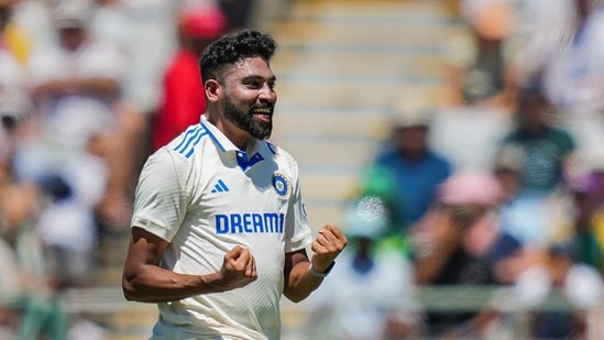
[{"label": "blurred crowd of spectators right of the player", "polygon": [[[600,339],[604,2],[453,8],[441,100],[391,103],[348,254],[310,297],[315,339]],[[466,300],[425,308],[431,287]],[[546,308],[556,294],[567,308]]]}]

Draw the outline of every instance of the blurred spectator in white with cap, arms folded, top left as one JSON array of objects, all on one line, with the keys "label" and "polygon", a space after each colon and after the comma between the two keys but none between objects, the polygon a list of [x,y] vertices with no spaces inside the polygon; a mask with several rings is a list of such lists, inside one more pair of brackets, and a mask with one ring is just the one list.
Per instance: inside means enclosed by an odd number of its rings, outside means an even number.
[{"label": "blurred spectator in white with cap, arms folded, top left", "polygon": [[123,54],[114,45],[90,35],[90,18],[88,1],[57,4],[53,22],[58,41],[37,46],[29,63],[29,81],[37,114],[53,123],[57,120],[77,122],[78,134],[67,131],[70,139],[65,141],[76,150],[87,143],[89,135],[99,132],[98,125],[111,127],[114,120],[111,106],[119,98],[125,68]]}]

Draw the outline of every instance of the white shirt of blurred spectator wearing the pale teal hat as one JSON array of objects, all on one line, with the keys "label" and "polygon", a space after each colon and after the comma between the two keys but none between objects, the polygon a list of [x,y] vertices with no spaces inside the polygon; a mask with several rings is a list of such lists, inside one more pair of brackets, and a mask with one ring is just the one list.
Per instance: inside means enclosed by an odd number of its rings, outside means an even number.
[{"label": "white shirt of blurred spectator wearing the pale teal hat", "polygon": [[354,268],[354,244],[338,256],[333,271],[301,303],[312,314],[309,339],[384,339],[388,316],[415,315],[410,263],[395,251],[377,251],[373,267],[360,273]]}]

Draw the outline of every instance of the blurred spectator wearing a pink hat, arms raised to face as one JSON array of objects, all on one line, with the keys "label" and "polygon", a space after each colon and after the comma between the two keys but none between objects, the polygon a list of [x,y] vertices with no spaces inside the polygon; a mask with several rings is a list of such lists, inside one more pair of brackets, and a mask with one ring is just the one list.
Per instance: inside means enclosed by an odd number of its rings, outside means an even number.
[{"label": "blurred spectator wearing a pink hat, arms raised to face", "polygon": [[[464,169],[441,186],[431,210],[409,230],[418,285],[495,285],[496,265],[521,248],[499,228],[498,182],[488,172]],[[428,337],[480,338],[497,312],[428,311]]]}]

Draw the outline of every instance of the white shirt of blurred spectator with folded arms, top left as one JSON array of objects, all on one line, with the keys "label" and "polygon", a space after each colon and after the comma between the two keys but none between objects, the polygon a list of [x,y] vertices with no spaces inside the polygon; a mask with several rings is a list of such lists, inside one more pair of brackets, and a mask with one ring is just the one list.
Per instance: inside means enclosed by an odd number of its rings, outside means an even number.
[{"label": "white shirt of blurred spectator with folded arms, top left", "polygon": [[[107,78],[122,83],[127,59],[114,44],[89,39],[76,51],[59,45],[34,50],[28,65],[33,89],[53,80]],[[113,99],[81,91],[44,96],[36,111],[44,119],[45,133],[66,147],[84,149],[89,138],[111,130],[117,122]]]}]

